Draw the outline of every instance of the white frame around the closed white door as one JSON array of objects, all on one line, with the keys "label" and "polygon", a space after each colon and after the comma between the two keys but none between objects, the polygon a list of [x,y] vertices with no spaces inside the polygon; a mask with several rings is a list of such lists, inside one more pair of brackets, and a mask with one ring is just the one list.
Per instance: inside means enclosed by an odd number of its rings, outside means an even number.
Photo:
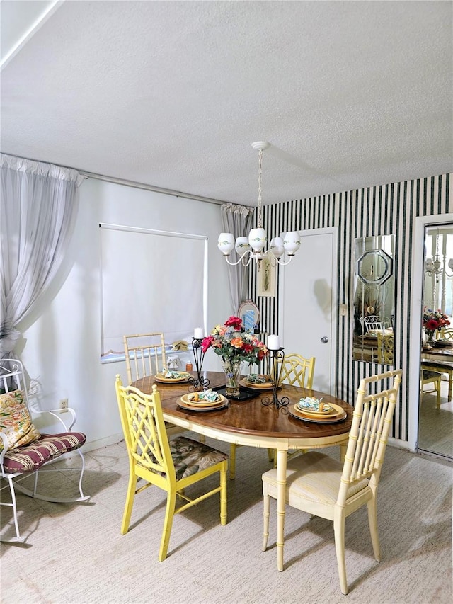
[{"label": "white frame around the closed white door", "polygon": [[[336,392],[336,343],[337,343],[337,322],[338,322],[338,227],[323,227],[321,229],[305,229],[304,231],[298,231],[300,237],[311,237],[312,235],[332,235],[332,258],[331,258],[331,274],[332,274],[332,294],[331,294],[331,392]],[[300,261],[300,258],[299,258]],[[293,262],[297,262],[297,253]],[[280,279],[278,297],[279,300],[283,300],[282,291],[285,287],[285,268],[282,268],[283,278]],[[285,317],[280,316],[279,320],[279,331],[283,333],[283,327],[285,323]],[[315,366],[316,371],[316,366]]]}]

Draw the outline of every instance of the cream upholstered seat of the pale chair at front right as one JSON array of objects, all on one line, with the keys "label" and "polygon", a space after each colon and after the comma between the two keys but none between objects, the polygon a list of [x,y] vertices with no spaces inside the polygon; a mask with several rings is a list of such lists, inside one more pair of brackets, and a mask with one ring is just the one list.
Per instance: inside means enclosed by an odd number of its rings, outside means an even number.
[{"label": "cream upholstered seat of the pale chair at front right", "polygon": [[[288,462],[286,489],[289,496],[302,497],[313,503],[333,506],[338,499],[343,462],[318,451],[309,451]],[[277,489],[277,470],[270,469],[263,474],[270,493]],[[355,483],[348,490],[348,498],[368,486],[368,479]]]}]

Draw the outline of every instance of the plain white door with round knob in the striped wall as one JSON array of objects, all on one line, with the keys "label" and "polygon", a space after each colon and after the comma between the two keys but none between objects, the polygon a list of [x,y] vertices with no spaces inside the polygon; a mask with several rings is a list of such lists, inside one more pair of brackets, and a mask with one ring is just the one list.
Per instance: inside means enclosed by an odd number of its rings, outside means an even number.
[{"label": "plain white door with round knob in the striped wall", "polygon": [[301,246],[280,268],[280,335],[285,354],[316,357],[314,389],[333,393],[336,350],[337,229],[300,232]]}]

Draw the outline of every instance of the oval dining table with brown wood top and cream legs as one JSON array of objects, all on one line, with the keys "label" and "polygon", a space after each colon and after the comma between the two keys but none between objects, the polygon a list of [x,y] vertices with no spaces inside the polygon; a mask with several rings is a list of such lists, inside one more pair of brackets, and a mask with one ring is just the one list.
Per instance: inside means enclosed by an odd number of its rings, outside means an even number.
[{"label": "oval dining table with brown wood top and cream legs", "polygon": [[[196,379],[197,374],[194,372]],[[224,372],[203,372],[209,380],[209,388],[222,391]],[[161,398],[164,420],[181,428],[207,437],[248,447],[273,449],[277,452],[277,569],[283,570],[283,542],[285,531],[285,486],[287,452],[294,449],[317,449],[339,445],[344,459],[348,435],[352,423],[353,407],[326,392],[282,384],[277,389],[280,401],[287,399],[287,406],[273,402],[273,390],[260,387],[241,387],[241,399],[226,399],[219,409],[209,411],[181,406],[181,397],[187,397],[195,387],[188,381],[159,381],[156,376],[142,377],[132,382],[144,394],[151,394],[156,386]],[[334,423],[318,423],[302,419],[294,413],[301,398],[315,397],[326,404],[340,406],[345,417]]]}]

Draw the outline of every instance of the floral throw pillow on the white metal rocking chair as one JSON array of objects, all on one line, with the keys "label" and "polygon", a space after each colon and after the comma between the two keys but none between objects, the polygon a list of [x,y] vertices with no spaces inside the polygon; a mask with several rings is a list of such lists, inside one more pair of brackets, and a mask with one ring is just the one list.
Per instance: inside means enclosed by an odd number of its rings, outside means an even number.
[{"label": "floral throw pillow on the white metal rocking chair", "polygon": [[[33,426],[21,390],[0,394],[0,431],[8,438],[8,450],[33,443],[40,433]],[[3,440],[0,439],[0,451]]]}]

